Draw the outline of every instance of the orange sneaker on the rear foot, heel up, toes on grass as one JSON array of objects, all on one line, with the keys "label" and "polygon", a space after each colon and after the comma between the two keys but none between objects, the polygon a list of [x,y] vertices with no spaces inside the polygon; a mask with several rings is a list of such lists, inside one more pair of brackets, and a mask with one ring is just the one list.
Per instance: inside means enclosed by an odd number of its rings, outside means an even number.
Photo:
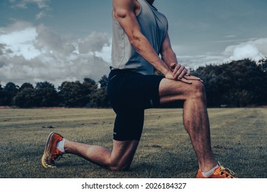
[{"label": "orange sneaker on the rear foot, heel up, toes on grass", "polygon": [[55,159],[62,156],[63,153],[57,148],[58,141],[62,141],[63,136],[55,132],[51,132],[45,144],[44,154],[42,155],[42,166],[45,168],[55,168]]}]

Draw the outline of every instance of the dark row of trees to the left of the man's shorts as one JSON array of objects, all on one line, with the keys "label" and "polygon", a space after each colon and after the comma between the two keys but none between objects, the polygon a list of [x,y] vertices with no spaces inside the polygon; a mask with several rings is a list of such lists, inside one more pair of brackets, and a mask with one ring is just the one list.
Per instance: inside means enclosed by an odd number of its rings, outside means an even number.
[{"label": "dark row of trees to the left of the man's shorts", "polygon": [[8,82],[3,88],[0,85],[0,106],[109,108],[106,87],[106,75],[98,83],[88,77],[82,83],[62,82],[58,89],[49,82],[38,82],[35,87],[30,83],[19,87]]}]

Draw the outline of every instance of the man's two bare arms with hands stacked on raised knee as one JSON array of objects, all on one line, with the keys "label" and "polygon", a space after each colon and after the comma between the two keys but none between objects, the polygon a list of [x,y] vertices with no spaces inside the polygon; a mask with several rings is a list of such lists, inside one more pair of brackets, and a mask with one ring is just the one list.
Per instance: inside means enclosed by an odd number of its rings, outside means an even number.
[{"label": "man's two bare arms with hands stacked on raised knee", "polygon": [[[168,34],[162,45],[162,59],[157,55],[155,49],[149,43],[149,40],[142,34],[139,23],[136,19],[137,1],[134,0],[113,0],[113,17],[117,19],[120,26],[123,28],[129,42],[140,55],[150,64],[160,71],[170,80],[181,80],[186,83],[191,83],[188,80],[195,80],[194,77],[186,77],[189,75],[185,67],[177,63],[177,59],[173,49],[170,47],[170,39]],[[199,78],[197,78],[199,80]]]}]

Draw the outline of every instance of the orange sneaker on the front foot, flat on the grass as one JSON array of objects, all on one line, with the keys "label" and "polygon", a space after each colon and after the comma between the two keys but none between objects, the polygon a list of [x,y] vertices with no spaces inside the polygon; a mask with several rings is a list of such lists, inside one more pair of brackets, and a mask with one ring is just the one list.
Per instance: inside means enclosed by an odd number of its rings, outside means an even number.
[{"label": "orange sneaker on the front foot, flat on the grass", "polygon": [[228,171],[231,173],[230,174],[227,171],[225,171],[226,169],[228,168],[225,168],[219,164],[219,167],[214,170],[214,173],[208,177],[203,176],[201,169],[199,169],[199,171],[197,171],[196,173],[196,178],[234,178],[233,176],[231,176],[231,174],[234,175],[235,173],[230,169],[228,169]]}]

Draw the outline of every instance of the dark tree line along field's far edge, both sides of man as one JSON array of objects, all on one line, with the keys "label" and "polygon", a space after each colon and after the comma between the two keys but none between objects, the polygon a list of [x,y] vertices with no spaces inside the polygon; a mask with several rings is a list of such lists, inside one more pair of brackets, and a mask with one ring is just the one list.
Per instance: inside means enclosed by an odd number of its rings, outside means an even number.
[{"label": "dark tree line along field's far edge, both sides of man", "polygon": [[[203,80],[208,107],[267,106],[267,59],[258,64],[249,59],[209,64],[191,73]],[[0,84],[0,106],[110,108],[106,88],[106,75],[99,82],[88,77],[84,82],[62,82],[57,89],[49,82],[37,82],[35,87],[8,82]]]}]

